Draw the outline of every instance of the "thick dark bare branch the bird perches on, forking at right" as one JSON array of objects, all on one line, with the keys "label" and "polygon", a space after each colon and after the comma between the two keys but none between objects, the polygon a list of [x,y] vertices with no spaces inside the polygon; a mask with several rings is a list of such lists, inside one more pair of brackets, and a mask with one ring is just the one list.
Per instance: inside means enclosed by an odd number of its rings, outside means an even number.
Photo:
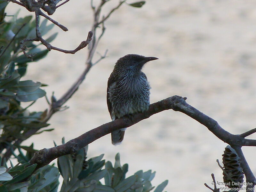
[{"label": "thick dark bare branch the bird perches on, forking at right", "polygon": [[192,117],[199,123],[203,124],[220,140],[228,143],[232,148],[234,148],[241,158],[241,166],[244,170],[246,179],[248,182],[253,184],[253,186],[250,186],[251,188],[253,188],[256,183],[256,179],[244,158],[241,147],[248,145],[248,143],[250,143],[251,146],[256,146],[256,140],[248,140],[245,139],[244,137],[241,137],[240,135],[234,135],[227,132],[226,130],[220,127],[217,121],[189,105],[185,101],[186,99],[186,97],[182,98],[180,96],[175,95],[167,99],[153,103],[149,106],[148,111],[145,111],[144,113],[124,116],[122,118],[116,119],[115,121],[100,125],[99,127],[94,128],[80,135],[79,137],[68,141],[65,144],[48,149],[44,148],[40,151],[37,151],[33,158],[30,160],[30,163],[37,163],[37,168],[42,167],[44,165],[49,164],[52,160],[60,156],[76,153],[80,148],[85,147],[89,143],[92,143],[93,141],[99,139],[100,137],[107,135],[117,129],[130,127],[133,124],[136,124],[139,121],[146,119],[156,113],[168,109],[173,109],[174,111],[180,111]]}]

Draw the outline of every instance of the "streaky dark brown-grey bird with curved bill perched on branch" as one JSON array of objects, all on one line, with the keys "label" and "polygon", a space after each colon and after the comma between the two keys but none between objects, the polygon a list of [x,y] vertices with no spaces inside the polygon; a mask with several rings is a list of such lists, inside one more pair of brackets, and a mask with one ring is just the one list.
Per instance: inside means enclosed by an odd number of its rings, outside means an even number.
[{"label": "streaky dark brown-grey bird with curved bill perched on branch", "polygon": [[[116,61],[108,78],[107,105],[112,121],[148,110],[150,85],[143,66],[156,57],[128,54]],[[126,128],[111,132],[113,145],[121,144]]]}]

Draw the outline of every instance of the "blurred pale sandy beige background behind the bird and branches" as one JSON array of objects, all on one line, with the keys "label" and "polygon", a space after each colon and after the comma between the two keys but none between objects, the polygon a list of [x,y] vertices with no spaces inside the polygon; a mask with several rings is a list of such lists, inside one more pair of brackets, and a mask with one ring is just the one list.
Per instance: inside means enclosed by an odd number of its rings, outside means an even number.
[{"label": "blurred pale sandy beige background behind the bird and branches", "polygon": [[[128,1],[132,2],[132,1]],[[86,39],[92,25],[90,1],[69,1],[52,16],[69,31],[58,27],[53,46],[74,49]],[[103,12],[117,4],[112,0]],[[106,104],[108,77],[116,60],[128,53],[158,57],[143,71],[151,83],[151,102],[172,95],[211,116],[227,131],[239,134],[256,124],[256,2],[253,0],[148,0],[142,9],[123,5],[106,22],[106,33],[98,51],[108,57],[94,66],[84,83],[68,101],[70,107],[50,120],[52,132],[32,137],[25,144],[49,148],[52,140],[66,140],[110,121]],[[20,8],[10,3],[8,14]],[[20,15],[29,14],[21,8]],[[84,69],[87,50],[75,55],[51,51],[47,58],[31,63],[26,79],[49,84],[48,96],[57,98],[73,84]],[[25,79],[23,79],[25,80]],[[44,110],[44,99],[32,109]],[[252,136],[249,138],[256,137]],[[203,125],[172,110],[156,114],[133,125],[120,146],[111,145],[110,135],[89,146],[89,157],[105,154],[129,163],[129,174],[139,169],[156,171],[158,185],[169,180],[167,191],[209,191],[211,173],[222,181],[216,163],[226,144]],[[255,148],[243,151],[256,173]],[[128,175],[129,175],[128,174]]]}]

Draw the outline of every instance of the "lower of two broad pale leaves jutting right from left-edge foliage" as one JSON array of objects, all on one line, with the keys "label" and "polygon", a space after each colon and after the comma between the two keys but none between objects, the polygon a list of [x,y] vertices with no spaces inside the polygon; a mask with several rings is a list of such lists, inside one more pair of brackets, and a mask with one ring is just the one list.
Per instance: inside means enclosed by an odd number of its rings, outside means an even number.
[{"label": "lower of two broad pale leaves jutting right from left-edge foliage", "polygon": [[46,92],[40,88],[33,92],[18,91],[16,99],[22,102],[35,101],[40,97],[44,97],[45,94]]}]

